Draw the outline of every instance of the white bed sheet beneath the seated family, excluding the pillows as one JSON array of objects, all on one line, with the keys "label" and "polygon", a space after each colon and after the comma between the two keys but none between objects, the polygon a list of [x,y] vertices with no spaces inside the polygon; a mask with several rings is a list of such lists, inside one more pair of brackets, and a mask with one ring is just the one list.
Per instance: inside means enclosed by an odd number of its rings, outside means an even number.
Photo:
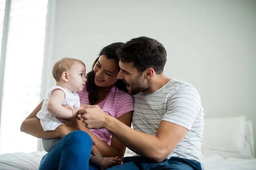
[{"label": "white bed sheet beneath the seated family, excluding the pillows", "polygon": [[[0,155],[0,170],[38,170],[45,151],[6,153]],[[125,156],[133,156],[127,153]],[[256,170],[256,159],[224,158],[216,154],[204,156],[207,170]]]}]

